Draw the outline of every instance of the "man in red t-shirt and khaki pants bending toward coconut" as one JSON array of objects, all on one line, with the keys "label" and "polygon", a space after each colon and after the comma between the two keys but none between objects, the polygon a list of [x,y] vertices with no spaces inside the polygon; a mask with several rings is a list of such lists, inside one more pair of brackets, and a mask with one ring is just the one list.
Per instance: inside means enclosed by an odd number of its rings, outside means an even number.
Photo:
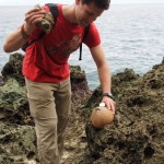
[{"label": "man in red t-shirt and khaki pants bending toward coconut", "polygon": [[[52,30],[26,49],[23,62],[31,115],[35,121],[40,164],[60,164],[63,153],[63,132],[68,122],[71,86],[69,55],[82,42],[84,26],[90,31],[84,43],[97,66],[103,90],[102,102],[115,114],[115,102],[110,95],[110,75],[101,46],[99,34],[93,23],[109,8],[109,0],[75,0],[72,5],[58,4],[58,17]],[[46,7],[44,9],[47,10]],[[25,14],[22,27],[10,34],[4,51],[20,49],[27,40],[40,33],[36,25],[45,10],[35,8]]]}]

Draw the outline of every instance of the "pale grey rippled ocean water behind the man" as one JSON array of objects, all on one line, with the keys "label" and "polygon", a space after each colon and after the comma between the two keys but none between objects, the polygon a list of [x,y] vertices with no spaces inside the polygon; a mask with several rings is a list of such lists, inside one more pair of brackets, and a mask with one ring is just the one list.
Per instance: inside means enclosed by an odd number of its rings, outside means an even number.
[{"label": "pale grey rippled ocean water behind the man", "polygon": [[[32,7],[0,7],[0,69],[9,59],[2,45],[7,35],[24,21],[25,12]],[[112,74],[133,69],[137,73],[148,72],[164,57],[164,4],[113,4],[96,20],[102,46]],[[86,46],[83,60],[79,50],[70,57],[70,65],[79,65],[85,71],[91,90],[99,85],[97,70]]]}]

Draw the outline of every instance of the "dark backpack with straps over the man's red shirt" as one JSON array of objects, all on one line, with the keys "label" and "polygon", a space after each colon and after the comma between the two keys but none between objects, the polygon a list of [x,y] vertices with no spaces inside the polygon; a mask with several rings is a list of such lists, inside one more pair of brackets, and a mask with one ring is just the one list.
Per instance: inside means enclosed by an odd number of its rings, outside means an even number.
[{"label": "dark backpack with straps over the man's red shirt", "polygon": [[[49,8],[49,10],[50,10],[50,12],[51,12],[51,14],[52,14],[54,22],[56,22],[57,16],[58,16],[58,7],[57,7],[57,4],[55,4],[55,3],[47,3],[46,5]],[[87,34],[89,34],[89,30],[90,30],[90,24],[84,27],[84,36],[83,36],[82,42],[85,40],[85,38],[86,38]],[[42,33],[39,34],[38,38],[33,39],[31,43],[28,43],[28,42],[25,43],[25,44],[22,46],[21,49],[22,49],[23,51],[26,51],[26,48],[27,48],[27,47],[30,47],[30,46],[33,45],[36,40],[38,40],[38,39],[40,39],[42,37],[44,37],[44,35],[46,35],[45,32],[42,32]],[[82,43],[81,43],[81,45],[80,45],[80,56],[79,56],[79,60],[82,60]]]}]

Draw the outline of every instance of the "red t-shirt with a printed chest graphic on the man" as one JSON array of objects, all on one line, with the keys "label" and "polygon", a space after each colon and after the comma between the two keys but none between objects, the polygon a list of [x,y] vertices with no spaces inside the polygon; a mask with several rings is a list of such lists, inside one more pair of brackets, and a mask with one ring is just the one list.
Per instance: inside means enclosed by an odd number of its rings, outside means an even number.
[{"label": "red t-shirt with a printed chest graphic on the man", "polygon": [[[31,81],[60,82],[70,75],[68,58],[79,48],[84,30],[80,25],[70,24],[63,17],[61,4],[58,4],[58,11],[52,30],[26,49],[23,74]],[[36,28],[30,39],[37,38],[40,33],[42,30]],[[90,25],[84,43],[90,48],[101,44],[94,23]]]}]

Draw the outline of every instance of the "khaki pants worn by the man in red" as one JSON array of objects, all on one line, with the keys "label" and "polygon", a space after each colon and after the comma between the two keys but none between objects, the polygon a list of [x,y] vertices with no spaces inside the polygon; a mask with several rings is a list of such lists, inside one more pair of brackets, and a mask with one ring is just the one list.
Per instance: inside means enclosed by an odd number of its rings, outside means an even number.
[{"label": "khaki pants worn by the man in red", "polygon": [[35,121],[39,163],[60,164],[63,132],[71,107],[70,78],[60,83],[25,81],[30,110]]}]

